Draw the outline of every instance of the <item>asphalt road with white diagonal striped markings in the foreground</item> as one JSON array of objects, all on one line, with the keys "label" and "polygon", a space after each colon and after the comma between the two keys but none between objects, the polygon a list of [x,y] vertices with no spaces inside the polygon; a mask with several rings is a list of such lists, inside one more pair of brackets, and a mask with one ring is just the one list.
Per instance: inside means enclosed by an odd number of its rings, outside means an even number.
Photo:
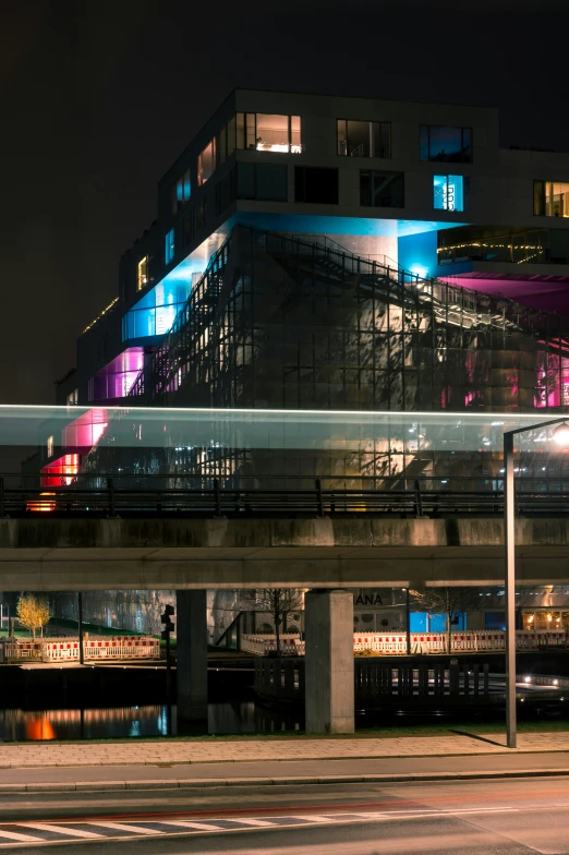
[{"label": "asphalt road with white diagonal striped markings in the foreground", "polygon": [[569,855],[569,778],[4,794],[0,852],[8,850]]}]

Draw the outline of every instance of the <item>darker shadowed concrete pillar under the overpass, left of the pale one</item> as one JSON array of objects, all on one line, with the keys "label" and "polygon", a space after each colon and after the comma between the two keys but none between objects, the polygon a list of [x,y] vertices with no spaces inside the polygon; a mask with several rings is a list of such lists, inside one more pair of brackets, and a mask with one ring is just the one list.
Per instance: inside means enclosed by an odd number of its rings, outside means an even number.
[{"label": "darker shadowed concrete pillar under the overpass, left of the pale one", "polygon": [[207,592],[177,591],[178,723],[207,722]]}]

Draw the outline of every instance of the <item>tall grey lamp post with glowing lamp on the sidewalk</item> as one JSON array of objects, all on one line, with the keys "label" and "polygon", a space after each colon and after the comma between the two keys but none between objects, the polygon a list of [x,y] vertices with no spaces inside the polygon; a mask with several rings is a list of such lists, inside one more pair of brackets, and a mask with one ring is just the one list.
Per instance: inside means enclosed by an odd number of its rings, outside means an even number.
[{"label": "tall grey lamp post with glowing lamp on the sidewalk", "polygon": [[504,542],[506,558],[506,744],[516,748],[518,740],[516,718],[516,501],[513,484],[513,437],[540,428],[559,426],[553,438],[560,446],[569,445],[569,424],[566,419],[552,419],[528,428],[504,432]]}]

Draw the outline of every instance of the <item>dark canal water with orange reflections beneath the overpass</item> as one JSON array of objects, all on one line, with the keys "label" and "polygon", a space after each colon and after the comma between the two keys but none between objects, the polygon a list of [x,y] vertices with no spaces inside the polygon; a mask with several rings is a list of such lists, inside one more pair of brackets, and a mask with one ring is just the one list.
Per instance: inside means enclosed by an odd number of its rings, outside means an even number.
[{"label": "dark canal water with orange reflections beneath the overpass", "polygon": [[[298,731],[303,726],[301,712],[267,710],[257,707],[253,700],[208,706],[207,733],[210,734]],[[204,726],[202,733],[205,732]],[[140,738],[177,733],[175,706],[169,709],[161,703],[63,710],[0,710],[0,739],[3,742]]]}]

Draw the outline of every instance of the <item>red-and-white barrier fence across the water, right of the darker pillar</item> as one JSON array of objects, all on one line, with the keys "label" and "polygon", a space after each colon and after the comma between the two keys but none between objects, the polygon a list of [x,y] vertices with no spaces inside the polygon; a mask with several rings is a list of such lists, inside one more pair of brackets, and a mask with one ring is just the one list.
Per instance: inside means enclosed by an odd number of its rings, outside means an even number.
[{"label": "red-and-white barrier fence across the water, right of the darker pillar", "polygon": [[[411,633],[411,653],[445,653],[447,651],[446,633]],[[544,647],[567,647],[568,633],[516,633],[518,650],[538,650]],[[298,635],[280,637],[280,652],[289,655],[304,655],[305,642]],[[277,649],[276,638],[270,635],[245,635],[241,637],[241,650],[263,657]],[[355,653],[371,650],[374,653],[407,654],[405,633],[354,633],[353,649]],[[497,631],[452,633],[450,651],[477,652],[506,650],[506,634]]]}]

